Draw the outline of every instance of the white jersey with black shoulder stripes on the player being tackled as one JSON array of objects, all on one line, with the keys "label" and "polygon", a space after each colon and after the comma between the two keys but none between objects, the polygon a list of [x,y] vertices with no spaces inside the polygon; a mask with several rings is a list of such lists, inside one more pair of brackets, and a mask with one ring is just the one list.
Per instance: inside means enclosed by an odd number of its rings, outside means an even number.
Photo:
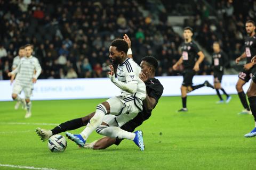
[{"label": "white jersey with black shoulder stripes on the player being tackled", "polygon": [[[146,98],[146,86],[139,78],[140,71],[140,66],[135,63],[132,58],[127,58],[122,64],[117,66],[116,75],[119,81],[124,83],[136,83],[137,91],[135,97],[143,100]],[[121,94],[129,94],[129,92],[121,90]]]}]

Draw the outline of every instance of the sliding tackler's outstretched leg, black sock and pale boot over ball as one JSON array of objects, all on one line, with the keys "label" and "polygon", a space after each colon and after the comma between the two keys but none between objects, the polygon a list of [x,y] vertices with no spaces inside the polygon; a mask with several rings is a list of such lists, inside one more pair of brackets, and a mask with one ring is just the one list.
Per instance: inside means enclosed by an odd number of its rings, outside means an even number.
[{"label": "sliding tackler's outstretched leg, black sock and pale boot over ball", "polygon": [[61,132],[66,132],[69,130],[75,130],[87,125],[91,118],[94,116],[94,114],[95,112],[82,118],[75,118],[73,120],[61,123],[58,126],[55,126],[52,130],[37,128],[36,133],[39,135],[42,141],[46,141],[54,134],[59,134]]}]

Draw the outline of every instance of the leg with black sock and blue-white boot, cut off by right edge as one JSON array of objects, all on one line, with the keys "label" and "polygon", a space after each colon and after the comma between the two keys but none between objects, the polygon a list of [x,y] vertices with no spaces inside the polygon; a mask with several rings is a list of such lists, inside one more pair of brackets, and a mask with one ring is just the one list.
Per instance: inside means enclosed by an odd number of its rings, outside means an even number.
[{"label": "leg with black sock and blue-white boot, cut off by right edge", "polygon": [[245,134],[245,137],[254,137],[256,135],[256,80],[255,77],[252,78],[252,82],[250,84],[249,89],[247,90],[247,96],[250,103],[250,108],[252,111],[252,115],[254,117],[254,129],[250,132]]}]

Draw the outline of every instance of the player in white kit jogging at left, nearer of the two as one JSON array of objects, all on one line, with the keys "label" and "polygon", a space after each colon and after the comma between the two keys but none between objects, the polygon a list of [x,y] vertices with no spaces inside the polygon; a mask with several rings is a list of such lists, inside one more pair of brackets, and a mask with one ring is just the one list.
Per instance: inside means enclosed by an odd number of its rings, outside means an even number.
[{"label": "player in white kit jogging at left, nearer of the two", "polygon": [[[27,106],[27,113],[25,118],[31,116],[31,101],[30,96],[33,91],[33,83],[36,83],[37,78],[41,74],[41,66],[36,57],[32,56],[33,45],[25,46],[26,57],[21,58],[17,68],[8,73],[8,76],[16,75],[13,85],[13,94],[18,94],[23,90],[25,93],[25,100]],[[36,72],[35,72],[36,71]]]}]

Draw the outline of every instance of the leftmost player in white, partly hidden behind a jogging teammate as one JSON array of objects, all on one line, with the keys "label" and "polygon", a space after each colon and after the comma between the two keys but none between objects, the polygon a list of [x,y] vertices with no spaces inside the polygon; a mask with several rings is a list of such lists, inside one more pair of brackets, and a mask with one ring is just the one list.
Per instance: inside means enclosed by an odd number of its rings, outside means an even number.
[{"label": "leftmost player in white, partly hidden behind a jogging teammate", "polygon": [[[24,57],[25,55],[26,55],[26,53],[25,53],[25,47],[24,47],[24,46],[21,46],[21,47],[19,48],[18,56],[14,57],[14,59],[13,59],[12,71],[15,70],[15,69],[18,67],[21,58]],[[12,77],[11,77],[11,84],[13,83],[14,78],[15,78],[15,74],[13,74]],[[12,99],[17,101],[17,103],[16,103],[15,106],[14,106],[14,108],[15,108],[16,110],[19,108],[19,106],[20,106],[21,103],[22,103],[22,105],[23,105],[22,108],[23,108],[23,109],[26,109],[26,101],[25,101],[25,99],[21,98],[21,97],[19,96],[19,94],[14,94],[14,93],[12,92]]]}]

